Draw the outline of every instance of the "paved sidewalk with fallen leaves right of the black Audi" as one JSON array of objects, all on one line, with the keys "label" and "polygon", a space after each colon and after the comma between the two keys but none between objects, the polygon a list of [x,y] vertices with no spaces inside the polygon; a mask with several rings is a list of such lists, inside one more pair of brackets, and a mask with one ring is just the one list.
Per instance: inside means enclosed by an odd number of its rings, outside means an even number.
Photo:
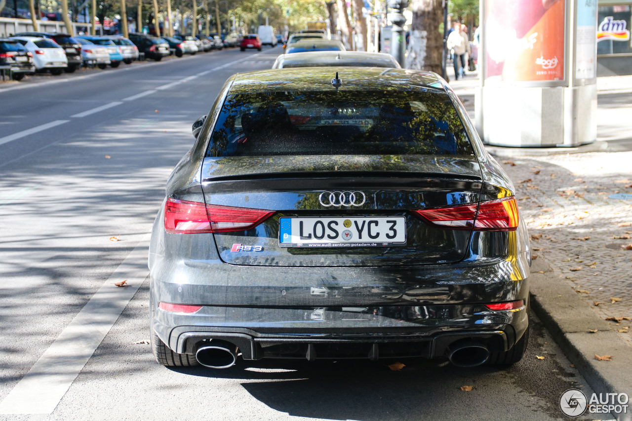
[{"label": "paved sidewalk with fallen leaves right of the black Audi", "polygon": [[[450,83],[471,117],[478,82]],[[598,78],[597,90],[593,145],[488,149],[531,235],[533,310],[596,392],[632,394],[632,76]]]}]

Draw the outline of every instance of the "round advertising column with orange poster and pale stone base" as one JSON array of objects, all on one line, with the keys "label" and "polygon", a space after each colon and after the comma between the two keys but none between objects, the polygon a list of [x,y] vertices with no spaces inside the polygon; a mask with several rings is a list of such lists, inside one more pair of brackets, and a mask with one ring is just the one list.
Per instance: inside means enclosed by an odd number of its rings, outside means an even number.
[{"label": "round advertising column with orange poster and pale stone base", "polygon": [[506,147],[593,142],[596,126],[578,133],[577,119],[588,116],[587,124],[593,124],[588,114],[596,90],[574,90],[595,87],[597,0],[480,4],[483,60],[476,123],[484,142]]}]

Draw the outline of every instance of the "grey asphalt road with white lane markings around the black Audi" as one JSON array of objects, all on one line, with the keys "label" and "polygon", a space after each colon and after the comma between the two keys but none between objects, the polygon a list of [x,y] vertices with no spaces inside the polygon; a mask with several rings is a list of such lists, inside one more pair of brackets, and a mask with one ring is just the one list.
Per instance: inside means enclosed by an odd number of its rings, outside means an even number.
[{"label": "grey asphalt road with white lane markings around the black Audi", "polygon": [[[270,68],[280,52],[0,85],[0,420],[548,420],[562,418],[569,387],[592,393],[535,317],[525,359],[507,370],[155,363],[138,343],[149,339],[143,247],[167,176],[226,78]],[[128,288],[113,286],[128,275]],[[103,291],[118,310],[97,300]],[[54,405],[42,412],[40,401]]]}]

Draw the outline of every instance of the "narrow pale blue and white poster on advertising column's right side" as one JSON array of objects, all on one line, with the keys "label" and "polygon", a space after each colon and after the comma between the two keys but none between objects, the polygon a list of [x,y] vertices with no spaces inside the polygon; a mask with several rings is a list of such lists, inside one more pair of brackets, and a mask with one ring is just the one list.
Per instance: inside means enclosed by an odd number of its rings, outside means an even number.
[{"label": "narrow pale blue and white poster on advertising column's right side", "polygon": [[597,77],[597,0],[577,2],[575,78]]}]

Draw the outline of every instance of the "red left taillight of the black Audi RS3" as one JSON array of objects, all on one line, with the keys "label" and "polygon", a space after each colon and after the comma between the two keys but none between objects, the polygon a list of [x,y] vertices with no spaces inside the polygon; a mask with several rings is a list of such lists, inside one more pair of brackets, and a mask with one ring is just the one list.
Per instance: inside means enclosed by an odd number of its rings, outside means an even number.
[{"label": "red left taillight of the black Audi RS3", "polygon": [[164,228],[172,234],[244,231],[262,223],[272,214],[274,210],[205,205],[167,198]]}]

